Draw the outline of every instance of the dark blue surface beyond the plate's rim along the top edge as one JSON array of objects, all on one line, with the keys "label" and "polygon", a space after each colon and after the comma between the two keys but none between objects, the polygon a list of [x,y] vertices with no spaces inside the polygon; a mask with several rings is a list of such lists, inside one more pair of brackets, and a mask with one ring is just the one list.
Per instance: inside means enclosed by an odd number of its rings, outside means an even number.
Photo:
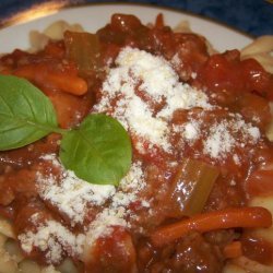
[{"label": "dark blue surface beyond the plate's rim along the top edge", "polygon": [[12,15],[46,2],[63,7],[96,2],[149,3],[212,19],[252,36],[273,34],[273,0],[0,0],[0,25]]}]

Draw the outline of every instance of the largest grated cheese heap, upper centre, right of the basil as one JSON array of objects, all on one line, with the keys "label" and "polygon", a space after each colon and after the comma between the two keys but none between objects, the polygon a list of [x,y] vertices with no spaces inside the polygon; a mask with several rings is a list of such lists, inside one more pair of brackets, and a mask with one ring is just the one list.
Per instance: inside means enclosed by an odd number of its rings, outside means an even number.
[{"label": "largest grated cheese heap, upper centre, right of the basil", "polygon": [[[95,111],[104,111],[117,118],[139,141],[171,152],[168,121],[175,110],[192,107],[210,108],[204,93],[179,82],[171,64],[162,57],[144,50],[126,47],[116,59],[116,68],[109,70],[103,84],[103,97],[94,106]],[[155,112],[151,104],[138,95],[143,92],[153,103],[163,104]],[[115,105],[112,102],[118,97]],[[141,143],[135,147],[143,153]]]}]

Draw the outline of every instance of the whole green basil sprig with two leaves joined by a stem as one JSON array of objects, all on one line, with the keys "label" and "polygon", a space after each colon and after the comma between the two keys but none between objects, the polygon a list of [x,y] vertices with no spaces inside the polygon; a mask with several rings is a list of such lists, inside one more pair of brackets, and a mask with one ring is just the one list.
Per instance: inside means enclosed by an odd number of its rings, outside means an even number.
[{"label": "whole green basil sprig with two leaves joined by a stem", "polygon": [[118,185],[131,165],[131,142],[114,118],[91,115],[73,130],[58,128],[50,99],[24,79],[0,75],[0,151],[62,134],[60,158],[88,182]]}]

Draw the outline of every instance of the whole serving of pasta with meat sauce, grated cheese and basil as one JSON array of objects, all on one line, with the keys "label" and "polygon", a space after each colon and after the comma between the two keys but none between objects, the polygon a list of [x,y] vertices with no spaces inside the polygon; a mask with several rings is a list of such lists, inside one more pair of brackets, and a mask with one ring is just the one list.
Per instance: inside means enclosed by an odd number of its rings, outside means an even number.
[{"label": "whole serving of pasta with meat sauce, grated cheese and basil", "polygon": [[51,27],[0,58],[0,269],[272,272],[272,37]]}]

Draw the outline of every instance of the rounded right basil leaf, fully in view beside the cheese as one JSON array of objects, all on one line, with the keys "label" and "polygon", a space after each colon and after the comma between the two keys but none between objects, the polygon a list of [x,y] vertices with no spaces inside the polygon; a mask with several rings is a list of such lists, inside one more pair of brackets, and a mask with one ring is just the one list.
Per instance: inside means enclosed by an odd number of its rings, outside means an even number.
[{"label": "rounded right basil leaf, fully in view beside the cheese", "polygon": [[114,118],[90,115],[79,129],[68,131],[61,141],[60,158],[67,169],[88,182],[118,185],[131,165],[131,142]]}]

